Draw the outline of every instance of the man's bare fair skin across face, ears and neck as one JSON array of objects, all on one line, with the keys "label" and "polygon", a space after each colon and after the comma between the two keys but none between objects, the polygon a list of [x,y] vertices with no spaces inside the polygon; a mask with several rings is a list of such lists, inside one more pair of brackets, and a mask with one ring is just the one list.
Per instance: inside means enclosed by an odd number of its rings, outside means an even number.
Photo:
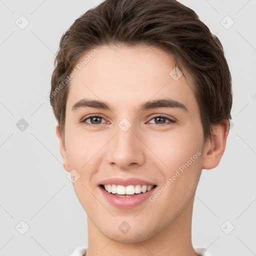
[{"label": "man's bare fair skin across face, ears and neck", "polygon": [[[201,169],[214,168],[222,157],[228,123],[213,126],[214,136],[204,144],[189,74],[183,69],[184,75],[174,80],[169,75],[173,58],[161,49],[105,45],[98,50],[70,82],[64,141],[56,126],[63,166],[80,175],[73,187],[87,213],[86,256],[197,255],[191,243],[194,193]],[[188,111],[166,107],[139,111],[144,101],[166,96]],[[83,97],[106,101],[112,111],[92,107],[72,111]],[[102,116],[94,121],[101,124],[93,126],[90,118],[87,124],[82,122],[89,114]],[[176,121],[153,118],[159,114]],[[122,118],[131,124],[125,132],[118,126]],[[120,209],[109,204],[97,186],[105,178],[139,177],[160,188],[197,151],[201,155],[154,202]],[[125,234],[118,229],[123,221],[131,226]]]}]

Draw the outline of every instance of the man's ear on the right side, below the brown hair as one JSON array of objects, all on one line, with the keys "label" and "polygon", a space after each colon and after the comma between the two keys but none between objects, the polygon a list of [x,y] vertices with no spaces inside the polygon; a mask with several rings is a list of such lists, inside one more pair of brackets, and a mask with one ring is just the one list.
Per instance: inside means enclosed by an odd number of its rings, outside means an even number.
[{"label": "man's ear on the right side, below the brown hair", "polygon": [[224,153],[226,138],[229,131],[229,122],[224,121],[221,124],[213,125],[213,135],[208,139],[202,160],[203,169],[212,169],[216,167]]}]

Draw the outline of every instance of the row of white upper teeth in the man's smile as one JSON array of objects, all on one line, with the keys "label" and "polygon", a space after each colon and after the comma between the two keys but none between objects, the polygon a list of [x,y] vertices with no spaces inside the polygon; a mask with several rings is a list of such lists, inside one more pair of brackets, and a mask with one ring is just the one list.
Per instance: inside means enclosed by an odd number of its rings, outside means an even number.
[{"label": "row of white upper teeth in the man's smile", "polygon": [[151,190],[153,185],[122,186],[122,185],[106,184],[106,185],[104,185],[104,187],[108,193],[123,195],[123,194],[139,194],[141,192],[145,193],[146,191]]}]

